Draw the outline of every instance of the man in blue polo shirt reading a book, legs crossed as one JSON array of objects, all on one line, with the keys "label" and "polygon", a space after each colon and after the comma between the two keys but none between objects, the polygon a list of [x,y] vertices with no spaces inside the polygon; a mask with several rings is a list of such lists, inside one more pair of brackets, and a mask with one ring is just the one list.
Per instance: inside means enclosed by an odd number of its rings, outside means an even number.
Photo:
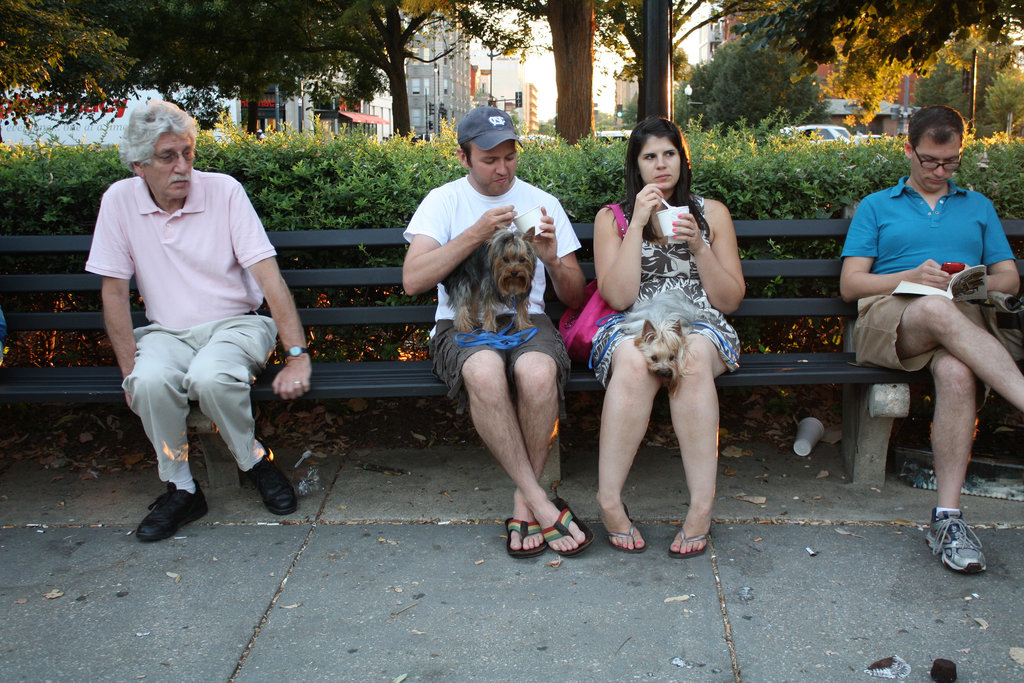
[{"label": "man in blue polo shirt reading a book, legs crossed", "polygon": [[[1020,276],[992,203],[957,187],[964,118],[948,106],[927,106],[909,122],[910,175],[866,197],[843,249],[840,289],[857,301],[857,361],[921,370],[935,380],[932,451],[938,506],[928,544],[947,567],[985,569],[981,542],[964,521],[959,492],[974,441],[978,385],[1024,410],[1024,377],[1010,353],[984,328],[975,304],[942,296],[893,295],[900,281],[946,289],[942,263],[984,264],[988,290],[1017,294]],[[984,393],[982,392],[982,396]]]}]

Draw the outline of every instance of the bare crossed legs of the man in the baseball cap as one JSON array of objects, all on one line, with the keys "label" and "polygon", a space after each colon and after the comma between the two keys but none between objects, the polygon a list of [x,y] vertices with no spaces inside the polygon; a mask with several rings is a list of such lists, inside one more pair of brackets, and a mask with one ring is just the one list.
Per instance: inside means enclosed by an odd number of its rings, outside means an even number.
[{"label": "bare crossed legs of the man in the baseball cap", "polygon": [[[513,374],[518,404],[513,403],[505,374],[504,359],[483,350],[469,356],[462,377],[469,394],[470,415],[484,445],[516,485],[512,516],[542,527],[554,524],[559,510],[541,487],[540,476],[548,459],[551,435],[558,418],[558,389],[555,361],[544,353],[524,353]],[[555,550],[579,547],[585,537],[575,524],[571,536],[551,542]],[[513,540],[513,549],[530,549],[541,544],[539,535]]]}]

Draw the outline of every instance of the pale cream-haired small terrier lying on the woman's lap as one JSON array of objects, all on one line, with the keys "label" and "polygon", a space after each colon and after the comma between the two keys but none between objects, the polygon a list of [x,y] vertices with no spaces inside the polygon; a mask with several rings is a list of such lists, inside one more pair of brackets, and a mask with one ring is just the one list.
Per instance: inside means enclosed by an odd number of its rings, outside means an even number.
[{"label": "pale cream-haired small terrier lying on the woman's lap", "polygon": [[687,335],[705,317],[681,290],[655,294],[626,314],[623,332],[635,337],[633,343],[647,360],[647,369],[666,381],[670,396],[686,372]]}]

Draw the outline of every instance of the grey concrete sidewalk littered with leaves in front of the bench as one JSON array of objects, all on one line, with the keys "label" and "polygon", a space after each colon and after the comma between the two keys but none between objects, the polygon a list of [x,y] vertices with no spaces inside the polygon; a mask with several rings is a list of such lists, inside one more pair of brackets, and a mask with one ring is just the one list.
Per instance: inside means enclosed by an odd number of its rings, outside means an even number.
[{"label": "grey concrete sidewalk littered with leaves in front of the bench", "polygon": [[1024,504],[965,497],[988,560],[965,577],[925,545],[934,493],[850,486],[828,444],[733,455],[711,552],[678,561],[676,454],[645,446],[628,483],[640,555],[601,533],[596,453],[568,454],[558,494],[597,539],[557,566],[505,554],[510,484],[479,449],[315,459],[294,515],[208,490],[210,513],[156,544],[130,533],[153,470],[0,461],[0,680],[867,681],[893,654],[908,681],[936,657],[959,681],[1024,679]]}]

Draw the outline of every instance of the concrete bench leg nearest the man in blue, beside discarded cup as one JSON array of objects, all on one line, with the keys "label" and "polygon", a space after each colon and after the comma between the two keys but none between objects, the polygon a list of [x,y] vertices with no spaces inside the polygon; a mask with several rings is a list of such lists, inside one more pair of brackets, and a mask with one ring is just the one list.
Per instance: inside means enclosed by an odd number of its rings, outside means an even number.
[{"label": "concrete bench leg nearest the man in blue, beside discarded cup", "polygon": [[909,409],[909,385],[844,385],[843,460],[853,483],[885,483],[893,420],[906,417]]}]

